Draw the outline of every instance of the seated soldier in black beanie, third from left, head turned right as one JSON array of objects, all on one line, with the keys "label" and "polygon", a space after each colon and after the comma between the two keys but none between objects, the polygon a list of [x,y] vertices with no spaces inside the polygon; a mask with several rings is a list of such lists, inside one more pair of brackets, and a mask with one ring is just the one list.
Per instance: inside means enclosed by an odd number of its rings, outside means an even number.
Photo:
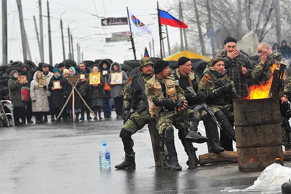
[{"label": "seated soldier in black beanie, third from left, head turned right", "polygon": [[[180,57],[178,60],[177,66],[178,66],[178,69],[175,69],[172,75],[175,77],[176,82],[177,81],[179,82],[179,86],[184,90],[184,96],[190,108],[195,109],[195,107],[197,107],[198,104],[202,102],[206,102],[207,93],[198,92],[199,78],[192,71],[192,65],[189,58]],[[192,90],[194,92],[192,92]],[[202,110],[204,109],[198,110],[200,114]],[[217,136],[216,136],[216,124],[213,122],[211,116],[209,114],[206,114],[204,115],[202,119],[203,119],[205,130],[208,134],[208,140],[211,144],[209,152],[223,152],[224,149],[218,145]],[[181,139],[183,145],[185,145],[185,138],[186,140],[190,140],[190,142],[195,142],[195,139],[192,140],[191,136],[190,136],[190,139],[188,139],[186,135],[184,135],[182,129],[178,129],[178,130],[179,130],[178,132],[179,139]]]}]

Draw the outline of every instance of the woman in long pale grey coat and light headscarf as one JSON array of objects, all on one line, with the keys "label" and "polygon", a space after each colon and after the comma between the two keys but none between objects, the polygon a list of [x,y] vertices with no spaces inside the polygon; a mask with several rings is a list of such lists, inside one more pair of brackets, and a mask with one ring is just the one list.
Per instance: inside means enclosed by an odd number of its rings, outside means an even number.
[{"label": "woman in long pale grey coat and light headscarf", "polygon": [[44,85],[39,86],[39,79],[42,77],[41,71],[36,71],[33,75],[33,79],[30,83],[30,98],[32,101],[32,112],[35,112],[35,123],[43,123],[42,120],[43,112],[49,112],[49,99],[46,95],[48,87]]}]

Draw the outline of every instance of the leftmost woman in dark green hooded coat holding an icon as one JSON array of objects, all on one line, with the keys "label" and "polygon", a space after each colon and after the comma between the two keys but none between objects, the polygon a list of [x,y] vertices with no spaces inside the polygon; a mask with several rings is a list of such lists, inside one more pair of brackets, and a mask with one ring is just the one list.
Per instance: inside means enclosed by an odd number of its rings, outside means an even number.
[{"label": "leftmost woman in dark green hooded coat holding an icon", "polygon": [[9,99],[11,100],[13,105],[13,116],[15,125],[22,125],[22,123],[19,122],[19,118],[25,118],[25,104],[21,100],[21,87],[24,86],[26,83],[19,83],[17,70],[12,70],[9,73]]}]

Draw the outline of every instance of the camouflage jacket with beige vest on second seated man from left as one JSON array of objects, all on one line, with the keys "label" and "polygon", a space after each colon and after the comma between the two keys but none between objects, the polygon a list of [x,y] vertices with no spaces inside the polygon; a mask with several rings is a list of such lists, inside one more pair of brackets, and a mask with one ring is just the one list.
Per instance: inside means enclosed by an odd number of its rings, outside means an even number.
[{"label": "camouflage jacket with beige vest on second seated man from left", "polygon": [[[146,82],[145,86],[145,92],[148,97],[149,102],[149,113],[151,115],[151,118],[156,118],[159,116],[159,112],[162,110],[164,112],[168,112],[171,110],[167,110],[164,107],[157,107],[153,103],[153,99],[157,99],[159,102],[163,99],[171,99],[171,100],[179,100],[183,101],[185,100],[185,96],[183,95],[183,89],[179,86],[176,88],[175,86],[175,78],[173,75],[170,75],[168,77],[159,79],[156,77],[156,75],[152,76],[151,79],[149,79]],[[162,84],[165,84],[166,91],[164,97],[164,93],[162,91]]]}]

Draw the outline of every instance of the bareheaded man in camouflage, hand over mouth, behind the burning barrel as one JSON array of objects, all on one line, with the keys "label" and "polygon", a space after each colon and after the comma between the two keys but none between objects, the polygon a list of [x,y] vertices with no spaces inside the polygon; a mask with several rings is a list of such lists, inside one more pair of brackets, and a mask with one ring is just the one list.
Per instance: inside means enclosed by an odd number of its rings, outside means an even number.
[{"label": "bareheaded man in camouflage, hand over mouth, behind the burning barrel", "polygon": [[[284,57],[281,53],[272,51],[270,46],[266,42],[261,42],[257,46],[257,51],[261,56],[261,62],[255,66],[255,69],[252,72],[253,79],[256,79],[264,84],[267,83],[271,76],[271,67],[277,63],[280,64],[281,60]],[[288,100],[290,101],[290,92],[291,92],[291,76],[290,76],[290,67],[289,65],[286,67],[285,70],[285,82],[283,89],[279,93],[279,97],[281,98],[280,103],[280,113],[281,113],[281,132],[282,132],[282,142],[285,146],[285,150],[291,150],[291,133],[290,133],[290,105]],[[270,80],[272,81],[272,80]]]}]

